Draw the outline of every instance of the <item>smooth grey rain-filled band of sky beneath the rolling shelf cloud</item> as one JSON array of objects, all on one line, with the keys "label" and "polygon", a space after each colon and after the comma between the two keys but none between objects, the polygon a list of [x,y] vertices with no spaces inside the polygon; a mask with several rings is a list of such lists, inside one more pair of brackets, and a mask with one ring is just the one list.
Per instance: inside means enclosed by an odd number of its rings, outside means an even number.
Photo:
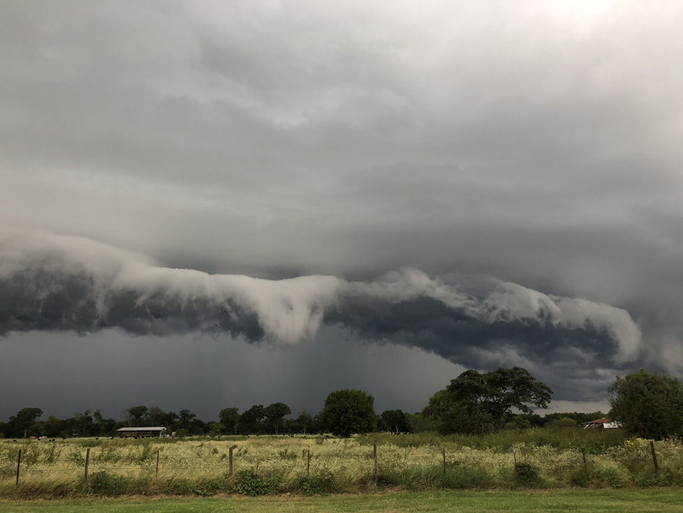
[{"label": "smooth grey rain-filled band of sky beneath the rolling shelf cloud", "polygon": [[320,411],[328,393],[344,388],[371,391],[377,412],[416,412],[464,370],[420,349],[347,342],[338,329],[324,327],[314,340],[286,348],[220,335],[139,338],[117,330],[14,333],[1,344],[0,385],[15,393],[0,396],[0,419],[27,404],[60,418],[101,408],[120,419],[126,408],[145,404],[189,408],[210,421],[224,407],[243,412],[278,401],[296,416],[302,408]]}]

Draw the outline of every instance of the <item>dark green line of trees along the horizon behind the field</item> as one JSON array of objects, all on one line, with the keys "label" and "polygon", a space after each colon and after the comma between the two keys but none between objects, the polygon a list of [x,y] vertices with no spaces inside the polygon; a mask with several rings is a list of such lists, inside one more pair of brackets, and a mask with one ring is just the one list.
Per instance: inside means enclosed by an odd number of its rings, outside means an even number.
[{"label": "dark green line of trees along the horizon behind the field", "polygon": [[[471,435],[501,429],[524,429],[548,425],[575,425],[605,417],[603,412],[552,413],[541,417],[532,407],[545,408],[552,390],[520,367],[499,368],[489,373],[467,370],[434,393],[416,413],[385,410],[376,414],[374,397],[362,390],[330,393],[317,414],[302,410],[296,417],[284,403],[252,405],[240,413],[237,407],[218,412],[217,421],[198,419],[191,410],[165,412],[156,406],[133,406],[125,418],[104,418],[100,410],[77,412],[68,419],[50,415],[45,420],[37,407],[22,408],[0,422],[0,437],[48,438],[111,436],[122,427],[166,427],[168,433],[188,435],[282,435],[332,433],[348,437],[355,433],[386,431]],[[609,416],[643,438],[683,436],[683,385],[675,377],[631,373],[617,377],[608,389]]]}]

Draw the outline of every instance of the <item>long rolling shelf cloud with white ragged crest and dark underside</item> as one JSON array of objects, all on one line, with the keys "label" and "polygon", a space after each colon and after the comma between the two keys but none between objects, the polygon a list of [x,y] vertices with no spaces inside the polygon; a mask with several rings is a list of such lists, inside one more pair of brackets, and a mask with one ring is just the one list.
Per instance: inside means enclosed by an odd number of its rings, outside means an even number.
[{"label": "long rolling shelf cloud with white ragged crest and dark underside", "polygon": [[640,345],[625,310],[490,278],[405,269],[372,282],[258,280],[161,268],[91,240],[22,232],[0,238],[0,262],[2,334],[203,331],[293,345],[322,324],[339,324],[361,338],[416,345],[475,367],[504,346],[548,365],[576,354],[624,363]]}]

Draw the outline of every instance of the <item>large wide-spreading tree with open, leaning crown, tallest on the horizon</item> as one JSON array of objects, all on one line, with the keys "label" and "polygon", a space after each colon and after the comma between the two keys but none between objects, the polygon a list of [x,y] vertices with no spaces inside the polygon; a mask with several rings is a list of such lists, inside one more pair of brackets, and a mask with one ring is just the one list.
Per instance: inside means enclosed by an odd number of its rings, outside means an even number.
[{"label": "large wide-spreading tree with open, leaning crown, tallest on the horizon", "polygon": [[545,408],[552,390],[521,367],[480,374],[466,370],[432,396],[425,414],[439,422],[443,433],[497,433],[513,409],[531,414],[529,405]]}]

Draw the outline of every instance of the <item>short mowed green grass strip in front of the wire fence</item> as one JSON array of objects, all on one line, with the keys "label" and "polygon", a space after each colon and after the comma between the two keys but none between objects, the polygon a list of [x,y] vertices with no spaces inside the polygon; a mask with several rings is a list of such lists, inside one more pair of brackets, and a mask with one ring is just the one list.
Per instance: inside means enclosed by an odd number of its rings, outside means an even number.
[{"label": "short mowed green grass strip in front of the wire fence", "polygon": [[683,511],[683,490],[383,493],[353,496],[0,500],[3,513],[619,512]]}]

